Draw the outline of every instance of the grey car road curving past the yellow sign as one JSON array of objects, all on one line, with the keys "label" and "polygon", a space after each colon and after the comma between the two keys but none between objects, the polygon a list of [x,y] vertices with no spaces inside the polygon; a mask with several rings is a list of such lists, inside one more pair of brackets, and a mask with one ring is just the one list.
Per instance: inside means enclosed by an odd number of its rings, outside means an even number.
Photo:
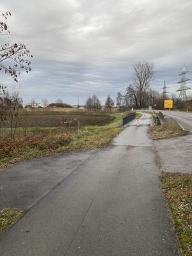
[{"label": "grey car road curving past the yellow sign", "polygon": [[164,115],[172,117],[177,121],[185,130],[192,132],[192,113],[182,111],[161,111]]}]

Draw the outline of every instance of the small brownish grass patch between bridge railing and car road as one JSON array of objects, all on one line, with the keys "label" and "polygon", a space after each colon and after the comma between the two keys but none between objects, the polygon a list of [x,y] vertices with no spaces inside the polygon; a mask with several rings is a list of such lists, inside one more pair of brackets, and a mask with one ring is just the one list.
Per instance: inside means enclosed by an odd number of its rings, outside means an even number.
[{"label": "small brownish grass patch between bridge railing and car road", "polygon": [[150,134],[153,140],[161,140],[185,136],[191,134],[191,132],[183,131],[177,123],[164,123],[158,127],[158,131],[154,127],[150,127]]}]

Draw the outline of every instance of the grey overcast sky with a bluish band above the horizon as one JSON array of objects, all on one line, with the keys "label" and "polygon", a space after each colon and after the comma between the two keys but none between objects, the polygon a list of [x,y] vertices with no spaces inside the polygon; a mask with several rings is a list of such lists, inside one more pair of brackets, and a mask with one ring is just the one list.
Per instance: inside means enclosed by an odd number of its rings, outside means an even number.
[{"label": "grey overcast sky with a bluish band above the horizon", "polygon": [[8,40],[24,42],[34,56],[19,85],[1,74],[25,103],[115,98],[132,83],[137,61],[154,62],[159,92],[164,79],[169,92],[179,87],[183,61],[192,71],[191,0],[1,0],[0,10],[12,13]]}]

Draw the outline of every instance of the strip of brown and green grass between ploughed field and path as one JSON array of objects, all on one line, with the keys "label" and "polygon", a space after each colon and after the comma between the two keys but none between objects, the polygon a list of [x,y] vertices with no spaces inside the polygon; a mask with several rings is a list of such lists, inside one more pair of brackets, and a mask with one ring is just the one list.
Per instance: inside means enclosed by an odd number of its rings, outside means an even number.
[{"label": "strip of brown and green grass between ploughed field and path", "polygon": [[122,115],[111,114],[115,119],[107,125],[81,127],[78,131],[67,131],[63,127],[40,128],[37,132],[29,128],[26,136],[0,138],[0,168],[6,168],[24,159],[50,156],[58,152],[104,147],[122,131]]}]

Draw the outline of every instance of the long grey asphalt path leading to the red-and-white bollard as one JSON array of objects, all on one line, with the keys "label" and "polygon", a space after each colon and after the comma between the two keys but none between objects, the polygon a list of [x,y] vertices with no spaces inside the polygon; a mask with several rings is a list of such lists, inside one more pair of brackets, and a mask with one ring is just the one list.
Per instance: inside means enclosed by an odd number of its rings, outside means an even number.
[{"label": "long grey asphalt path leading to the red-and-white bollard", "polygon": [[0,255],[178,256],[150,120],[140,124],[132,122],[31,207],[0,237]]}]

